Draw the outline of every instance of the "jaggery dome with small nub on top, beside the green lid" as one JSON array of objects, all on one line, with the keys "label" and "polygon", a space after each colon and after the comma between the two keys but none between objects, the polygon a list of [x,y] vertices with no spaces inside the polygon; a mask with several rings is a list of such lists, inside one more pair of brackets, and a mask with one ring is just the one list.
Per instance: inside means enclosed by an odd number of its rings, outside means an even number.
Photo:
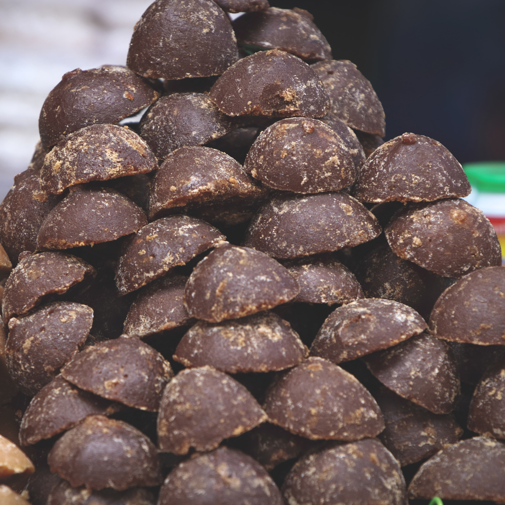
[{"label": "jaggery dome with small nub on top, beside the green lid", "polygon": [[436,140],[403,133],[379,146],[360,171],[352,192],[360,201],[433,201],[468,196],[463,168]]}]

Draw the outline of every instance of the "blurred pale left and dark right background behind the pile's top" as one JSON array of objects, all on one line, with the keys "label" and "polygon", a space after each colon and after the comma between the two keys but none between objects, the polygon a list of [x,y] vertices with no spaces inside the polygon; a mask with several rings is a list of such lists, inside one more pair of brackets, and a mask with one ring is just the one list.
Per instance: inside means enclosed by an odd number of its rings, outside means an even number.
[{"label": "blurred pale left and dark right background behind the pile's top", "polygon": [[[0,0],[0,199],[26,169],[47,93],[74,68],[124,64],[150,0]],[[334,59],[374,86],[386,139],[442,142],[461,163],[505,160],[503,0],[272,0],[307,9]]]}]

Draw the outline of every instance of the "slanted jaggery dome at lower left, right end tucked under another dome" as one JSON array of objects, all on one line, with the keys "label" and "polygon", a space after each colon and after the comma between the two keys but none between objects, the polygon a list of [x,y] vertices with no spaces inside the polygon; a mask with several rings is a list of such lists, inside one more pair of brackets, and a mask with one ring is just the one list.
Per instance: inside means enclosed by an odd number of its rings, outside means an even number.
[{"label": "slanted jaggery dome at lower left, right end tucked under another dome", "polygon": [[58,375],[30,401],[21,421],[19,441],[21,445],[37,443],[73,428],[87,416],[113,414],[118,407],[117,403],[82,391]]}]

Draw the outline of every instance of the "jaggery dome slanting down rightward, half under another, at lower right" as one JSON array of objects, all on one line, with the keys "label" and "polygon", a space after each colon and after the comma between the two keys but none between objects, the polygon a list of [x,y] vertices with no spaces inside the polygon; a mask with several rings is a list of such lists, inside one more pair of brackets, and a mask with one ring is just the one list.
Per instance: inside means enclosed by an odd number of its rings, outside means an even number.
[{"label": "jaggery dome slanting down rightward, half under another, at lower right", "polygon": [[449,345],[431,335],[410,338],[363,358],[387,388],[434,414],[449,414],[460,393]]}]

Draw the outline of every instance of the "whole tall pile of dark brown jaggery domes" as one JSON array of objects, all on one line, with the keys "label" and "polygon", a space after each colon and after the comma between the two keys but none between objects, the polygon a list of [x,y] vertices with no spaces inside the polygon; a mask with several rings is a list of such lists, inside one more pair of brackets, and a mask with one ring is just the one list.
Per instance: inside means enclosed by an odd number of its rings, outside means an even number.
[{"label": "whole tall pile of dark brown jaggery domes", "polygon": [[0,206],[32,505],[505,500],[496,234],[308,12],[156,0],[39,126]]}]

